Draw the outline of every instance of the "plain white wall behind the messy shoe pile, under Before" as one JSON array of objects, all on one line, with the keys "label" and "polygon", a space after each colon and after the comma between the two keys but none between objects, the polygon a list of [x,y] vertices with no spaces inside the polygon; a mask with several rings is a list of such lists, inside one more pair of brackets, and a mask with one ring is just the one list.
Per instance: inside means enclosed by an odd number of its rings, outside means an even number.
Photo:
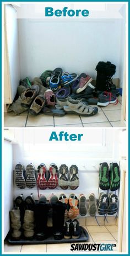
[{"label": "plain white wall behind the messy shoe pile, under Before", "polygon": [[96,79],[99,61],[111,61],[115,78],[123,76],[123,19],[95,19],[86,22],[46,22],[19,19],[21,78],[40,76],[47,70],[86,72]]}]

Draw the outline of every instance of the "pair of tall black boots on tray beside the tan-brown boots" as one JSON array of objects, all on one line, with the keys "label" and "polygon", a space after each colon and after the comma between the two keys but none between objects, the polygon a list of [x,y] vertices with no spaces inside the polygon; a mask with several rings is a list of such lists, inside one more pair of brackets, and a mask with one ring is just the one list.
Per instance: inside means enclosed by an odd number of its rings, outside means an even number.
[{"label": "pair of tall black boots on tray beside the tan-brown boots", "polygon": [[63,226],[64,226],[64,212],[66,210],[66,204],[63,202],[47,203],[46,199],[42,197],[35,205],[35,221],[36,229],[35,234],[37,240],[44,240],[50,236],[47,229],[48,211],[52,209],[52,226],[53,237],[55,239],[63,238]]}]

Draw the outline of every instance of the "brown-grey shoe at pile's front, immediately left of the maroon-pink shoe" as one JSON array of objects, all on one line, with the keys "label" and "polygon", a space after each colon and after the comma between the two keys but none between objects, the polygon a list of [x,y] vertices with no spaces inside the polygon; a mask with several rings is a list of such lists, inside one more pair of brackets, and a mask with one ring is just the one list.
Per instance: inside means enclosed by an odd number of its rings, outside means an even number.
[{"label": "brown-grey shoe at pile's front, immediately left of the maroon-pink shoe", "polygon": [[29,112],[32,115],[37,115],[42,110],[42,108],[44,108],[44,105],[45,105],[45,97],[44,97],[44,95],[39,94],[35,98],[34,102],[32,102]]}]

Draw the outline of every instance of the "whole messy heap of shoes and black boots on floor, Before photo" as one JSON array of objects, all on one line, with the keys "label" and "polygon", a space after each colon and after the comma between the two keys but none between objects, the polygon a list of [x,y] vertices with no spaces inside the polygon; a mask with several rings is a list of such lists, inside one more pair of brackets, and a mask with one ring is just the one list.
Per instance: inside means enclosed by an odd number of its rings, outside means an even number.
[{"label": "whole messy heap of shoes and black boots on floor, Before photo", "polygon": [[9,106],[8,111],[20,114],[25,110],[33,115],[40,112],[46,115],[63,116],[77,114],[91,116],[98,113],[98,108],[89,106],[98,104],[107,106],[117,103],[119,90],[112,83],[116,66],[111,62],[100,61],[96,66],[97,77],[95,86],[93,78],[86,73],[63,73],[62,68],[44,71],[40,78],[32,82],[26,77],[18,86],[19,98]]}]

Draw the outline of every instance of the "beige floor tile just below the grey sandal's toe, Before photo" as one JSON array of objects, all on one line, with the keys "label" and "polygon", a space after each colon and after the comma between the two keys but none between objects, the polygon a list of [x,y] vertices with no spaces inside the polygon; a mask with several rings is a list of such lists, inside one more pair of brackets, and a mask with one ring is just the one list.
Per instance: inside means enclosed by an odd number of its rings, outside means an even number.
[{"label": "beige floor tile just below the grey sandal's toe, Before photo", "polygon": [[94,116],[82,116],[83,124],[88,124],[91,122],[107,122],[107,121],[108,120],[102,111],[100,111]]}]

